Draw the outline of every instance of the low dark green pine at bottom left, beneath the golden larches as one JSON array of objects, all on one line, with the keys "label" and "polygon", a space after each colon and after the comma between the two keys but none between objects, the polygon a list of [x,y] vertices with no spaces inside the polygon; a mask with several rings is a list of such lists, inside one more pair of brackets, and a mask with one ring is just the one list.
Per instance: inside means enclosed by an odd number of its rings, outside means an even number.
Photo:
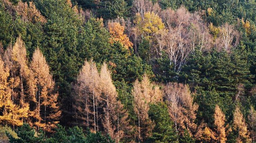
[{"label": "low dark green pine at bottom left, beneath the golden larches", "polygon": [[18,127],[15,132],[18,138],[7,133],[10,143],[44,143],[46,141],[43,131],[37,133],[35,129],[29,127],[28,124],[23,124],[21,127]]}]

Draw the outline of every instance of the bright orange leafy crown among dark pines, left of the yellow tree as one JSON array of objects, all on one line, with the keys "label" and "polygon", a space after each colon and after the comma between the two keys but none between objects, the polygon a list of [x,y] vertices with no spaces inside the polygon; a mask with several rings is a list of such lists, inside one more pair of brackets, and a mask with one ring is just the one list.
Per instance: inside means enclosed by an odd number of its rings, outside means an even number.
[{"label": "bright orange leafy crown among dark pines, left of the yellow tree", "polygon": [[126,49],[133,46],[126,34],[124,34],[124,26],[118,22],[109,22],[108,29],[111,34],[110,43],[120,42]]}]

